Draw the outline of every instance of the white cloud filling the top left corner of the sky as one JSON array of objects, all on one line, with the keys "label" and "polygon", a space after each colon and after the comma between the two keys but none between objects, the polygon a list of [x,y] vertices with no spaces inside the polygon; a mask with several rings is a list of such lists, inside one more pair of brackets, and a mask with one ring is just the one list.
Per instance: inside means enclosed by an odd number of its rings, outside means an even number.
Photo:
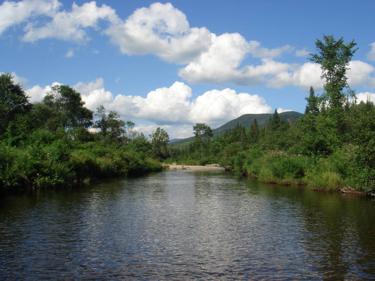
[{"label": "white cloud filling the top left corner of the sky", "polygon": [[0,6],[0,34],[8,27],[39,15],[52,16],[61,6],[57,0],[4,1]]}]

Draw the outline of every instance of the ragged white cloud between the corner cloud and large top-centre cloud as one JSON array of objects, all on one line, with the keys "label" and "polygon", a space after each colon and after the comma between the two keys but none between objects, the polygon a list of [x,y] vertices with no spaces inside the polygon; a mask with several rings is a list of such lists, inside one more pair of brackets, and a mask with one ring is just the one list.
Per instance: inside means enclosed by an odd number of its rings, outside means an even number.
[{"label": "ragged white cloud between the corner cloud and large top-centre cloud", "polygon": [[35,42],[39,39],[57,38],[85,42],[90,40],[84,28],[92,27],[98,29],[99,19],[106,20],[111,24],[116,24],[119,19],[115,10],[103,4],[96,6],[95,1],[84,3],[82,6],[72,4],[72,11],[57,12],[52,16],[52,21],[47,22],[42,27],[37,27],[36,22],[29,22],[22,37],[23,41]]}]

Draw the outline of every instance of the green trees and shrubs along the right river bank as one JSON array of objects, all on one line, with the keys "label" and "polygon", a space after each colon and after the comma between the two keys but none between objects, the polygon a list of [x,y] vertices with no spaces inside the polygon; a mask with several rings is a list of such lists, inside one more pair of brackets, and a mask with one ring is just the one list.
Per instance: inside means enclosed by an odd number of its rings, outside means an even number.
[{"label": "green trees and shrubs along the right river bank", "polygon": [[375,106],[357,101],[346,70],[356,52],[354,40],[324,36],[316,42],[324,92],[311,87],[304,116],[280,118],[277,110],[265,126],[255,119],[212,137],[204,123],[193,127],[195,140],[169,145],[177,164],[218,163],[242,175],[278,184],[307,184],[316,190],[361,190],[375,194]]}]

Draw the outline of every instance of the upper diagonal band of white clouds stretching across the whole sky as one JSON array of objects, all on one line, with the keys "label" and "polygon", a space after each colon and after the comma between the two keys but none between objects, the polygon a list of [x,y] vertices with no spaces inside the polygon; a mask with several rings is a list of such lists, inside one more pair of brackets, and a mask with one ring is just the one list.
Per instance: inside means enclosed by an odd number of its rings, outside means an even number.
[{"label": "upper diagonal band of white clouds stretching across the whole sky", "polygon": [[[0,33],[12,25],[27,22],[23,41],[57,38],[84,43],[90,40],[87,28],[92,28],[107,35],[123,54],[154,54],[167,62],[183,64],[178,76],[189,83],[263,84],[275,88],[294,85],[304,90],[311,85],[323,88],[319,65],[275,60],[284,52],[293,51],[292,46],[269,49],[258,41],[247,41],[239,33],[216,35],[205,27],[190,27],[186,15],[170,3],[153,3],[136,9],[124,20],[110,6],[97,6],[95,1],[81,6],[73,3],[71,10],[59,11],[60,6],[57,0],[5,1],[0,6]],[[39,15],[51,20],[43,19],[40,24],[36,18]],[[375,58],[375,42],[371,46],[370,59]],[[302,49],[295,55],[307,53]],[[66,54],[72,55],[72,51]],[[260,59],[260,62],[244,65],[248,56]],[[347,74],[350,85],[375,85],[375,77],[370,76],[374,72],[372,65],[352,61],[350,67]]]}]

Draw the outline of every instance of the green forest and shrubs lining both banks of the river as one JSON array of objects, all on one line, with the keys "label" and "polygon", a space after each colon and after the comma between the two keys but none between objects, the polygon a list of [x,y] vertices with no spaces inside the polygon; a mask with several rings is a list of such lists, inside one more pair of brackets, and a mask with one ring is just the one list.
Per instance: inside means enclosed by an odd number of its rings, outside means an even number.
[{"label": "green forest and shrubs lining both banks of the river", "polygon": [[204,123],[195,139],[168,144],[157,128],[149,138],[104,106],[84,106],[80,93],[56,85],[30,103],[9,73],[0,76],[0,187],[63,187],[115,175],[162,169],[161,161],[218,163],[239,174],[279,184],[308,184],[317,190],[361,190],[375,194],[375,106],[357,101],[346,77],[357,49],[354,40],[324,36],[316,41],[324,91],[311,87],[305,114],[285,119],[277,110],[264,126],[234,128],[213,137]]}]

